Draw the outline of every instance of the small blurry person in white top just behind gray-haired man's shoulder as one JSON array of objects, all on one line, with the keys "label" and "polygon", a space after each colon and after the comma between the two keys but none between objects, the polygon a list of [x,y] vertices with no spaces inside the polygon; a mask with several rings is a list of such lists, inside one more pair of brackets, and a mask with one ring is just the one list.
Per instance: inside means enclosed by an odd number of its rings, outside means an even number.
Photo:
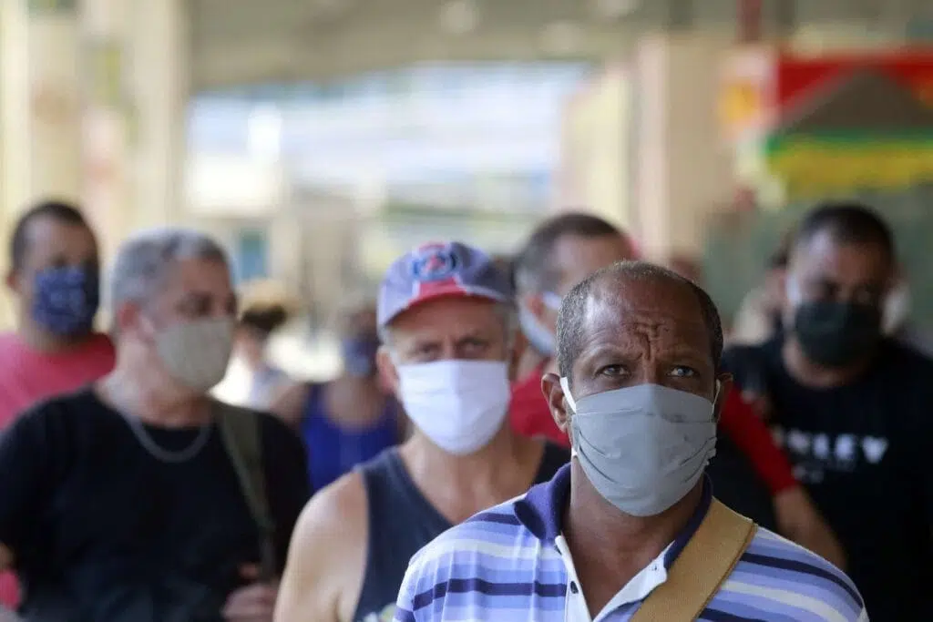
[{"label": "small blurry person in white top just behind gray-haired man's shoulder", "polygon": [[246,405],[266,410],[290,386],[285,372],[268,358],[269,340],[288,321],[285,307],[277,303],[255,304],[240,316],[237,351],[250,375]]}]

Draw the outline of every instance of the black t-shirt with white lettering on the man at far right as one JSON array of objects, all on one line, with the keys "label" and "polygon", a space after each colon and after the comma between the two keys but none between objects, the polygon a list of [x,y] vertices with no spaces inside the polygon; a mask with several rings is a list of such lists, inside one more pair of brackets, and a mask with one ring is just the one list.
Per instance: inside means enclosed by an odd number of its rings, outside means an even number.
[{"label": "black t-shirt with white lettering on the man at far right", "polygon": [[861,378],[814,389],[790,377],[781,347],[736,348],[726,366],[771,400],[775,436],[842,541],[871,620],[933,620],[933,361],[885,341]]}]

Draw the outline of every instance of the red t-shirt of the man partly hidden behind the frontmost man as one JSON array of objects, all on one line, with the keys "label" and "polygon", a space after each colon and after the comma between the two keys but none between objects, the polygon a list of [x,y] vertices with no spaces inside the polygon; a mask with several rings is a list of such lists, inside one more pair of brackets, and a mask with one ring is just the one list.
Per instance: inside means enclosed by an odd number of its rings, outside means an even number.
[{"label": "red t-shirt of the man partly hidden behind the frontmost man", "polygon": [[[512,385],[512,401],[508,408],[512,429],[521,435],[544,436],[570,447],[570,439],[557,427],[550,415],[548,401],[541,393],[543,369],[544,366],[537,368],[527,378]],[[774,445],[768,426],[755,415],[738,391],[732,390],[726,395],[719,425],[751,461],[755,472],[772,494],[797,485],[787,456]]]}]

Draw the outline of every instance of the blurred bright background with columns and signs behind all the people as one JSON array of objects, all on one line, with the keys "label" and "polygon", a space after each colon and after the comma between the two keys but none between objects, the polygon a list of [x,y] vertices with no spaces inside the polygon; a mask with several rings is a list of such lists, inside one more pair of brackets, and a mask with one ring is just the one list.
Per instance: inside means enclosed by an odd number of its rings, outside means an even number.
[{"label": "blurred bright background with columns and signs behind all the people", "polygon": [[47,197],[79,201],[107,256],[206,228],[244,297],[299,310],[272,348],[291,373],[334,373],[334,314],[413,244],[508,254],[568,209],[692,262],[729,320],[802,209],[863,197],[933,318],[927,0],[0,7],[4,239]]}]

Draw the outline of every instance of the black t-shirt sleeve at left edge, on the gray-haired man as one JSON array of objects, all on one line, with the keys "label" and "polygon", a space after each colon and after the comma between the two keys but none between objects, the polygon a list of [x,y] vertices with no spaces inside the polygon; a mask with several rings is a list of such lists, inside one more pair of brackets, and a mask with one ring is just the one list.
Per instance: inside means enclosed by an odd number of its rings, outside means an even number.
[{"label": "black t-shirt sleeve at left edge, on the gray-haired man", "polygon": [[61,454],[53,447],[62,436],[53,404],[23,414],[0,432],[0,543],[14,557],[35,540],[35,517],[49,496]]}]

